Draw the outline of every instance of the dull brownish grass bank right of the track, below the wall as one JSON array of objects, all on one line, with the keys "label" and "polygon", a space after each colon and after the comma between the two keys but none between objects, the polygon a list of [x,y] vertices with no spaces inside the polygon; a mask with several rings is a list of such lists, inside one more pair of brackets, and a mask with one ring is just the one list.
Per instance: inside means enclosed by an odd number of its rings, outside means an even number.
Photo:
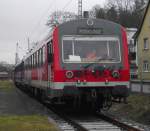
[{"label": "dull brownish grass bank right of the track, below the wall", "polygon": [[150,95],[132,94],[128,97],[128,104],[116,104],[111,112],[150,125]]}]

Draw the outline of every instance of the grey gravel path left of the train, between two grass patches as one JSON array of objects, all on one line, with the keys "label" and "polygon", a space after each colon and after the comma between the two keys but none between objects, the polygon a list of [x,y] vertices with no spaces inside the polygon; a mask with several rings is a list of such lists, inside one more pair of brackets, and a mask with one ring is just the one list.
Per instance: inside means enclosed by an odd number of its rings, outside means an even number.
[{"label": "grey gravel path left of the train, between two grass patches", "polygon": [[47,115],[47,109],[18,88],[0,90],[0,115]]}]

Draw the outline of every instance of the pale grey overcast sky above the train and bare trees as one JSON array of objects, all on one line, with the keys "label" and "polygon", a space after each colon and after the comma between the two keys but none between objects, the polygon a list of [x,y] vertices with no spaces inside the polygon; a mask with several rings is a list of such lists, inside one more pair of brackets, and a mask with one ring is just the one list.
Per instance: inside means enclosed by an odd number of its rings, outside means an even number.
[{"label": "pale grey overcast sky above the train and bare trees", "polygon": [[[103,6],[105,1],[83,0],[83,10]],[[27,50],[27,37],[32,41],[44,34],[48,16],[67,3],[64,10],[77,13],[78,0],[0,0],[0,61],[14,64],[17,42],[21,58]]]}]

